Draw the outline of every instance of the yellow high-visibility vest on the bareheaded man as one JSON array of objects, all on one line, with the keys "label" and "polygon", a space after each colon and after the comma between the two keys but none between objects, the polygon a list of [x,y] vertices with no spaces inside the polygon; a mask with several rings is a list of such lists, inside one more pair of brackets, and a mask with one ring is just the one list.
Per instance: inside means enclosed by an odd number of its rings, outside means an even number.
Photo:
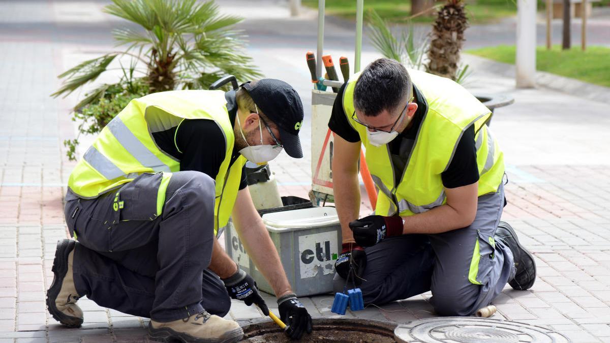
[{"label": "yellow high-visibility vest on the bareheaded man", "polygon": [[[409,70],[411,79],[428,102],[404,170],[394,170],[389,146],[368,143],[366,128],[351,118],[353,92],[359,74],[350,78],[343,93],[343,110],[365,146],[365,158],[379,189],[376,213],[412,215],[441,206],[447,201],[440,177],[450,165],[465,130],[475,126],[479,169],[478,195],[495,192],[504,174],[503,153],[493,140],[486,121],[490,111],[455,82],[422,71]],[[437,134],[442,132],[442,135]],[[396,185],[396,174],[401,173]]]}]

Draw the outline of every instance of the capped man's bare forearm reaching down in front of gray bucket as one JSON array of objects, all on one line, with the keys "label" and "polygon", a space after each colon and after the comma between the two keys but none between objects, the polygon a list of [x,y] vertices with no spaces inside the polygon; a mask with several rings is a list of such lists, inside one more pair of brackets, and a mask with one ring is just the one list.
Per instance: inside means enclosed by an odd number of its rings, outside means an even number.
[{"label": "capped man's bare forearm reaching down in front of gray bucket", "polygon": [[291,293],[292,288],[286,278],[278,251],[275,249],[275,245],[273,245],[273,241],[271,241],[271,237],[269,237],[269,233],[260,217],[256,223],[251,223],[251,225],[240,229],[239,236],[248,256],[265,276],[276,297],[279,298]]}]

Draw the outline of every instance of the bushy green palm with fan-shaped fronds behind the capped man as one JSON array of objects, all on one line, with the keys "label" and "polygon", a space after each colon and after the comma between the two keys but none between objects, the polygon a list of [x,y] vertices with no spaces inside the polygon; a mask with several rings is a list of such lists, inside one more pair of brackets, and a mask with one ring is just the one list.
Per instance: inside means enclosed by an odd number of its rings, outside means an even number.
[{"label": "bushy green palm with fan-shaped fronds behind the capped man", "polygon": [[[234,25],[239,16],[220,15],[213,1],[112,0],[105,12],[142,27],[115,29],[113,36],[123,51],[113,51],[71,68],[59,78],[62,87],[52,96],[67,96],[95,81],[117,57],[137,61],[149,92],[177,88],[207,88],[225,74],[237,79],[260,77],[252,59],[243,53],[245,36]],[[136,68],[137,69],[137,68]],[[110,85],[90,92],[77,109],[101,98]]]}]

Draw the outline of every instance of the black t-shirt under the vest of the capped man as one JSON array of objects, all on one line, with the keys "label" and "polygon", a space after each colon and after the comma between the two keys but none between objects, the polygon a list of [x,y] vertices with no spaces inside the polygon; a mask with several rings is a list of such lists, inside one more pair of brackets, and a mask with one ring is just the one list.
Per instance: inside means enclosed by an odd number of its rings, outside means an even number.
[{"label": "black t-shirt under the vest of the capped man", "polygon": [[[237,114],[234,92],[228,92],[225,98],[228,101],[229,117],[233,122]],[[226,142],[223,131],[215,121],[185,119],[174,128],[152,132],[152,137],[161,150],[180,160],[180,170],[201,171],[210,178],[216,179],[220,165],[224,161]],[[239,151],[234,149],[231,165],[237,157]],[[248,186],[246,170],[243,168],[239,189],[245,189],[246,186]]]}]

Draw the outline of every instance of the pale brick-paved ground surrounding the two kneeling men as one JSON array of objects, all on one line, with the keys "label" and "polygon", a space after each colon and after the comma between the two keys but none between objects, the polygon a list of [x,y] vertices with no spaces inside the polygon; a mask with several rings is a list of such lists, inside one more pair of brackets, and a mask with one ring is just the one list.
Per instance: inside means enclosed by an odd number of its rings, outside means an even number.
[{"label": "pale brick-paved ground surrounding the two kneeling men", "polygon": [[[45,290],[58,239],[66,237],[62,197],[73,163],[62,140],[74,137],[74,98],[49,98],[56,75],[77,61],[113,49],[117,20],[100,14],[106,1],[0,2],[0,343],[142,342],[148,319],[79,300],[81,329],[66,329],[46,312]],[[315,50],[315,16],[291,19],[274,1],[221,1],[245,15],[248,52],[265,76],[300,92],[306,109],[304,150],[310,147],[310,83],[304,52]],[[353,60],[354,32],[327,23],[326,46]],[[366,40],[366,38],[365,38]],[[378,57],[365,43],[363,60]],[[475,70],[470,87],[508,92],[515,104],[498,109],[492,129],[506,154],[509,205],[503,219],[537,259],[530,291],[504,289],[495,319],[556,330],[575,342],[610,341],[610,118],[608,105],[553,92],[515,90],[514,80]],[[282,154],[273,163],[282,192],[306,196],[310,156]],[[429,294],[348,312],[348,317],[409,322],[434,316]],[[312,316],[331,316],[331,295],[302,298]],[[273,310],[275,300],[267,296]],[[275,309],[277,311],[277,309]],[[234,302],[229,316],[261,319]]]}]

